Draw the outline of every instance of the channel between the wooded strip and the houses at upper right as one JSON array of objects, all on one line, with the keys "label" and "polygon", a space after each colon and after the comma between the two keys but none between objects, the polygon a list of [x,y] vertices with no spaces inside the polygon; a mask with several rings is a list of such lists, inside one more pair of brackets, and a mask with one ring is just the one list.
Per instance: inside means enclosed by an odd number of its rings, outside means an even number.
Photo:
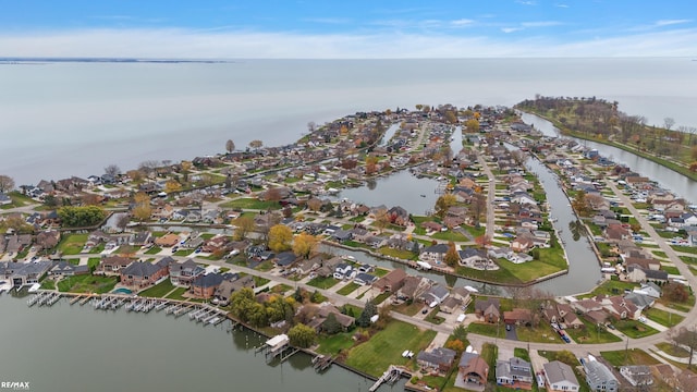
[{"label": "channel between the wooded strip and the houses at upper right", "polygon": [[[539,115],[523,113],[522,118],[526,124],[534,125],[535,128],[539,130],[547,136],[560,136],[559,128]],[[688,179],[685,175],[629,151],[576,137],[570,138],[587,146],[588,148],[597,149],[601,156],[607,157],[616,163],[626,164],[632,168],[633,171],[656,181],[661,187],[670,189],[690,203],[697,201],[697,181]]]}]

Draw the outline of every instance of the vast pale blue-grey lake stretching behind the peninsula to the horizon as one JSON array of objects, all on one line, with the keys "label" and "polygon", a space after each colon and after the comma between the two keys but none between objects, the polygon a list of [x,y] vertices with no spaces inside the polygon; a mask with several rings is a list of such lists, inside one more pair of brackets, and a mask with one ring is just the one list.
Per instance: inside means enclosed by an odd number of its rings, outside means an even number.
[{"label": "vast pale blue-grey lake stretching behind the peninsula to the horizon", "polygon": [[0,171],[20,184],[292,143],[307,123],[417,103],[596,96],[697,125],[689,59],[245,60],[2,64]]}]

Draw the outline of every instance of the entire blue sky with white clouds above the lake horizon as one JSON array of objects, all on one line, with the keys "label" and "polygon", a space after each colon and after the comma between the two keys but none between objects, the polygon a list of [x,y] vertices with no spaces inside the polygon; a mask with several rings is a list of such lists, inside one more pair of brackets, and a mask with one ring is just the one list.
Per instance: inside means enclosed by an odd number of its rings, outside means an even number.
[{"label": "entire blue sky with white clouds above the lake horizon", "polygon": [[0,57],[697,57],[695,0],[0,0]]}]

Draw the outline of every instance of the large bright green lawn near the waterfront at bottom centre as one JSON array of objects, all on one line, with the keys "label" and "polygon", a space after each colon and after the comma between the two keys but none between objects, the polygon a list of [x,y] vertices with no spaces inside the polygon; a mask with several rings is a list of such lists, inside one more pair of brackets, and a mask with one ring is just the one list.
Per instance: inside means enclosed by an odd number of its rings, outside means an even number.
[{"label": "large bright green lawn near the waterfront at bottom centre", "polygon": [[406,365],[415,359],[403,358],[405,350],[418,353],[436,336],[436,331],[423,331],[406,322],[392,321],[388,327],[348,352],[346,365],[379,377],[390,365]]}]

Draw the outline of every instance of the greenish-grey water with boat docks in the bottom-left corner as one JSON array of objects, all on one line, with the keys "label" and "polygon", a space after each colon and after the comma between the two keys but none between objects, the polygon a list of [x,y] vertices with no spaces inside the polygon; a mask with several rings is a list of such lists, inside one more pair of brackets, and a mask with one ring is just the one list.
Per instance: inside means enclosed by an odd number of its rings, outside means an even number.
[{"label": "greenish-grey water with boat docks in the bottom-left corner", "polygon": [[[69,305],[27,309],[26,301],[0,297],[2,381],[29,382],[30,391],[368,391],[371,380],[332,366],[318,375],[298,353],[267,365],[254,347],[262,338],[228,333],[228,322],[203,327],[164,313],[93,310]],[[406,380],[394,387],[401,391]]]}]

